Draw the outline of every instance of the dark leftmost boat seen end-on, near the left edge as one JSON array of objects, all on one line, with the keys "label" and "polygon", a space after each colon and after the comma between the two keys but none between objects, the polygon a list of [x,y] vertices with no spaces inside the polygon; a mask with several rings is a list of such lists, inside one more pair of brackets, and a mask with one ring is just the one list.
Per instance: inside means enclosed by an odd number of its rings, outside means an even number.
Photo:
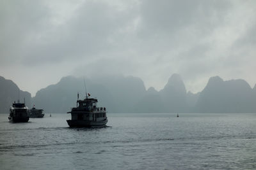
[{"label": "dark leftmost boat seen end-on, near the left edge", "polygon": [[12,104],[10,107],[10,115],[8,117],[9,122],[28,122],[29,116],[28,116],[28,107],[25,105],[25,103],[20,103],[18,100],[18,103]]}]

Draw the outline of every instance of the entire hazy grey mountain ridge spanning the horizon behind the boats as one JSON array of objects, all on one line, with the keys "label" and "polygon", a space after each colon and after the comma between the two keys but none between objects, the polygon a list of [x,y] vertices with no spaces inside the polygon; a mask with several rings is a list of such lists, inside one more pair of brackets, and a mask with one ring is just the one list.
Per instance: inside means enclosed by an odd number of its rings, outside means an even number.
[{"label": "entire hazy grey mountain ridge spanning the horizon behind the boats", "polygon": [[[1,101],[7,101],[1,102],[2,113],[8,112],[10,99],[17,98],[17,85],[11,81],[12,86],[6,86],[10,81],[0,77]],[[92,97],[99,99],[99,106],[106,107],[109,113],[256,113],[256,86],[252,89],[241,79],[223,81],[214,76],[209,78],[204,90],[196,94],[186,91],[179,74],[173,74],[159,91],[154,87],[146,90],[143,81],[133,76],[86,78],[86,87]],[[66,76],[38,90],[32,99],[28,92],[24,94],[29,107],[32,101],[45,113],[67,113],[76,106],[77,92],[80,99],[85,97],[83,78]],[[20,99],[21,94],[22,91]]]}]

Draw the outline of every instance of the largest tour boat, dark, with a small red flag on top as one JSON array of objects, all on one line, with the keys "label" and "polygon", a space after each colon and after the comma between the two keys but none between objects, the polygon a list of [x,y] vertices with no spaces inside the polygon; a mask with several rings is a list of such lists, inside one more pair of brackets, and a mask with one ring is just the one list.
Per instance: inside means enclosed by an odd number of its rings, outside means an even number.
[{"label": "largest tour boat, dark, with a small red flag on top", "polygon": [[[89,97],[88,97],[89,96]],[[98,100],[90,98],[86,94],[83,100],[79,100],[77,94],[77,106],[71,108],[71,120],[67,120],[70,127],[105,127],[108,123],[106,108],[97,107]]]}]

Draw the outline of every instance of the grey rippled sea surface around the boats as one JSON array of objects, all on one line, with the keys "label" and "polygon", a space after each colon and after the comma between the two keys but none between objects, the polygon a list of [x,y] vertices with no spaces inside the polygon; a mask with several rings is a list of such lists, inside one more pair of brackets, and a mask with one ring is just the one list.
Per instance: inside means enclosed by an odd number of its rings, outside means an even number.
[{"label": "grey rippled sea surface around the boats", "polygon": [[69,118],[1,114],[0,169],[256,169],[256,114],[108,114],[101,129]]}]

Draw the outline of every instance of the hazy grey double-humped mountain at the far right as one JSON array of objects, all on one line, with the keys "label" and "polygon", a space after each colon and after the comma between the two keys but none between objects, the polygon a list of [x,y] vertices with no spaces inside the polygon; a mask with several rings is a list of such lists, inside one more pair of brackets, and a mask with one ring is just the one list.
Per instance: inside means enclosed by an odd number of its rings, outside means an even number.
[{"label": "hazy grey double-humped mountain at the far right", "polygon": [[244,80],[209,79],[196,103],[199,113],[253,113],[253,90]]}]

